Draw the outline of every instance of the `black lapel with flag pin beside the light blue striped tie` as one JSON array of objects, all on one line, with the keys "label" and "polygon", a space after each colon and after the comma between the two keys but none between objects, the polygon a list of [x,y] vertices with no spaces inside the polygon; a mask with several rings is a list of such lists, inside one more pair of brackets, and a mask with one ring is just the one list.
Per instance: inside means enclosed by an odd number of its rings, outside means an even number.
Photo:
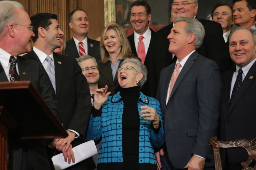
[{"label": "black lapel with flag pin beside the light blue striped tie", "polygon": [[54,67],[55,67],[55,83],[56,83],[56,96],[58,98],[60,86],[62,82],[62,58],[53,53]]}]

